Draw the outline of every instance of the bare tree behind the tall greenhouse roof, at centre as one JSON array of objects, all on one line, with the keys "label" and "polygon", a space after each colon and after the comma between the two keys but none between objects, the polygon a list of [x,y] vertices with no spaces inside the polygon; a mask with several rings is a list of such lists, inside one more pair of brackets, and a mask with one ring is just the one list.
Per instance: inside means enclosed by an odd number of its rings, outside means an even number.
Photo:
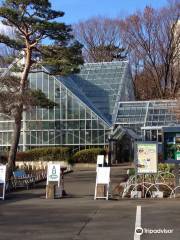
[{"label": "bare tree behind the tall greenhouse roof, at centre", "polygon": [[115,19],[94,17],[73,26],[77,40],[84,45],[83,54],[87,62],[110,62],[124,59],[119,27]]}]

